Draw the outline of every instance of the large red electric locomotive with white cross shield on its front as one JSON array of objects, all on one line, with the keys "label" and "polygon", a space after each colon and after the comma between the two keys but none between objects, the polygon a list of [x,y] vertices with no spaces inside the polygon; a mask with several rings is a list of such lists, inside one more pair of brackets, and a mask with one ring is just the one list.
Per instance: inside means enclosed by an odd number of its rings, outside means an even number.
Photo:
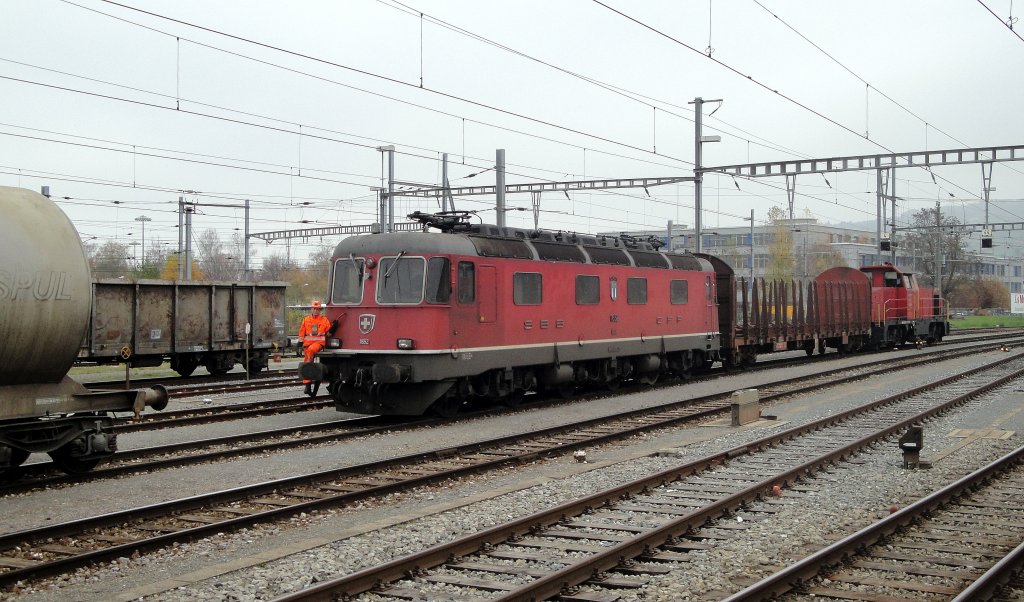
[{"label": "large red electric locomotive with white cross shield on its front", "polygon": [[337,327],[304,378],[339,410],[452,415],[535,388],[651,383],[721,358],[715,270],[659,241],[410,216],[442,233],[352,236],[335,249]]}]

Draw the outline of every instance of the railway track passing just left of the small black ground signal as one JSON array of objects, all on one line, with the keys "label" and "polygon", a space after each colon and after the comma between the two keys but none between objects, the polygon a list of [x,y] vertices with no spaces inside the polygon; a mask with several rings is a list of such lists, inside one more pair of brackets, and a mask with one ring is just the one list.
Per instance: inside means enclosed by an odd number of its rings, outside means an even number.
[{"label": "railway track passing just left of the small black ground signal", "polygon": [[[723,520],[774,487],[856,455],[974,396],[1024,376],[998,361],[477,533],[358,570],[274,602],[473,596],[488,600],[614,600],[685,561],[700,541],[743,528]],[[761,508],[771,514],[769,505]],[[586,586],[587,591],[575,588]]]}]

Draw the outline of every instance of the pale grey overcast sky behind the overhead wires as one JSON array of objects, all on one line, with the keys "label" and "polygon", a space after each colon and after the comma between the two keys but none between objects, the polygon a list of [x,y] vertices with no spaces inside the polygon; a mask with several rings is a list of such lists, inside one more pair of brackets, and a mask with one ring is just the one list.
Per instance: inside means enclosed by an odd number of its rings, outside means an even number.
[{"label": "pale grey overcast sky behind the overhead wires", "polygon": [[[177,242],[179,190],[253,203],[252,231],[374,221],[382,158],[454,186],[691,175],[696,96],[724,98],[706,165],[1024,143],[1010,0],[0,0],[0,184],[48,184],[84,239]],[[1017,12],[1024,11],[1018,6]],[[994,14],[993,14],[994,13]],[[688,46],[688,47],[687,47]],[[707,52],[711,49],[711,58]],[[706,106],[706,115],[714,110]],[[475,175],[474,175],[475,174]],[[981,197],[978,166],[900,170],[900,222]],[[1024,163],[991,221],[1024,221]],[[738,189],[737,189],[738,187]],[[799,217],[874,217],[874,174],[801,176]],[[784,181],[709,176],[707,229],[785,205]],[[493,199],[457,200],[495,221]],[[528,195],[508,223],[529,227]],[[436,210],[401,201],[396,214]],[[541,226],[693,223],[688,184],[545,195]],[[243,212],[204,207],[222,240]],[[296,241],[299,259],[336,239]],[[257,242],[259,256],[283,251]],[[259,259],[256,260],[258,266]]]}]

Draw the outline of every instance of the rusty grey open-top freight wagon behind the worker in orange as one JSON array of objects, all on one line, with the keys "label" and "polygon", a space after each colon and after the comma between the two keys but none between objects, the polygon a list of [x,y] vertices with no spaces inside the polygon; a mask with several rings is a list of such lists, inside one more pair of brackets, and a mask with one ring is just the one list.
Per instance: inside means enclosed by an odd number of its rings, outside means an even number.
[{"label": "rusty grey open-top freight wagon behind the worker in orange", "polygon": [[[287,344],[285,290],[278,282],[196,283],[99,280],[80,361],[160,365],[219,376],[237,363],[267,367]],[[247,331],[247,326],[248,331]]]}]

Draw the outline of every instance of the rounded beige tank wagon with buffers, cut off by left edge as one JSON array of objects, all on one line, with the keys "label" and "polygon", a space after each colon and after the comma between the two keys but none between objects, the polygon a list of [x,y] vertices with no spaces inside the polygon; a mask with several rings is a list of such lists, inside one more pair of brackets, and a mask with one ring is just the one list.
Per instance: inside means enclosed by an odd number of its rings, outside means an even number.
[{"label": "rounded beige tank wagon with buffers, cut off by left edge", "polygon": [[163,410],[167,391],[90,391],[68,376],[89,325],[89,263],[49,199],[0,186],[0,478],[33,453],[70,473],[117,449],[115,412]]}]

